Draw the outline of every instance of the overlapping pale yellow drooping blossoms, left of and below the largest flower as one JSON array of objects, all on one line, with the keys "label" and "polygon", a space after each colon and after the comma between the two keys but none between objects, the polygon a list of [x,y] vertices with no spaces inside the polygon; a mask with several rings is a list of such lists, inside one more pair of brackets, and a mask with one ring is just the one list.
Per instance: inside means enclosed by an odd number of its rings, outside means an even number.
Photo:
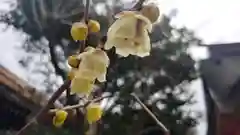
[{"label": "overlapping pale yellow drooping blossoms, left of and below the largest flower", "polygon": [[93,90],[96,79],[99,82],[106,81],[109,58],[100,48],[87,47],[78,59],[81,62],[74,71],[71,92],[88,95]]}]

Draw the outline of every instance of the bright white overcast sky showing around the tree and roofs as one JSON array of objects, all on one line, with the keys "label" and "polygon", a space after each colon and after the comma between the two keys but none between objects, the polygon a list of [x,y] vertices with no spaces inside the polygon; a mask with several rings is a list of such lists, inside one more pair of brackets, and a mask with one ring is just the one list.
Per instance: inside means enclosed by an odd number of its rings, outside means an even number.
[{"label": "bright white overcast sky showing around the tree and roofs", "polygon": [[[0,0],[0,10],[9,9],[8,5]],[[154,1],[154,0],[153,0]],[[159,0],[164,13],[177,8],[177,17],[173,24],[181,27],[187,26],[194,30],[196,35],[206,44],[238,42],[240,40],[240,0]],[[0,28],[4,25],[0,24]],[[11,29],[0,33],[0,63],[9,68],[23,79],[27,79],[27,71],[21,69],[16,61],[18,55],[16,46],[19,46],[23,39],[21,33]],[[206,55],[205,49],[193,48],[194,58]],[[195,108],[204,110],[200,81],[192,86],[197,92],[199,103]],[[205,123],[200,126],[200,134],[204,134]]]}]

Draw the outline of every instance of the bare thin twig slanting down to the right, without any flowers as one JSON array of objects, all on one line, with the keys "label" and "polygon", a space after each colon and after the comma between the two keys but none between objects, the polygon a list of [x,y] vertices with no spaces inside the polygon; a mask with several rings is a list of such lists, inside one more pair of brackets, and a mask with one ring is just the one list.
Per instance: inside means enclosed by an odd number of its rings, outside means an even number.
[{"label": "bare thin twig slanting down to the right, without any flowers", "polygon": [[160,122],[157,117],[146,107],[146,105],[138,98],[136,94],[131,94],[133,98],[143,107],[143,109],[153,118],[157,125],[164,131],[165,135],[170,135],[169,130]]}]

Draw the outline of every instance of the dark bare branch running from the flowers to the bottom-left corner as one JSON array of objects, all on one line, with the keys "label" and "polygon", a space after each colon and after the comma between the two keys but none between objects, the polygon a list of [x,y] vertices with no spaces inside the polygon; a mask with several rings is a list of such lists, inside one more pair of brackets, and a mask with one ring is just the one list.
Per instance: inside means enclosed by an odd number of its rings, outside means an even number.
[{"label": "dark bare branch running from the flowers to the bottom-left corner", "polygon": [[69,87],[71,81],[67,80],[59,89],[52,95],[48,103],[23,127],[16,135],[23,135],[24,131],[34,122],[36,122],[48,109],[49,107],[60,97],[60,95]]}]

